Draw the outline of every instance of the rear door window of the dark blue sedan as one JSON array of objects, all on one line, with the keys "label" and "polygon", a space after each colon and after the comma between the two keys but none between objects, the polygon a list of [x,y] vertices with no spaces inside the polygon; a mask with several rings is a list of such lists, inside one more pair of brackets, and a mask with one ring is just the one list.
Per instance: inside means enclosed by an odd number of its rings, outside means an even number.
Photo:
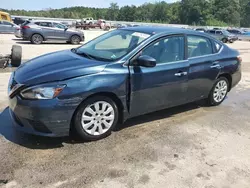
[{"label": "rear door window of the dark blue sedan", "polygon": [[200,36],[188,36],[188,57],[199,57],[213,54],[209,39]]}]

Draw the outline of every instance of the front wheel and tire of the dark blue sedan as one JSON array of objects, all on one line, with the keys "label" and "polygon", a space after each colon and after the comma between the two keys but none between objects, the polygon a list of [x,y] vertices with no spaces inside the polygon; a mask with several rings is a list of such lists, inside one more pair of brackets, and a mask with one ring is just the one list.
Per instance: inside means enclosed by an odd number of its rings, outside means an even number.
[{"label": "front wheel and tire of the dark blue sedan", "polygon": [[116,103],[105,96],[84,101],[76,112],[74,126],[78,135],[87,141],[109,136],[118,122]]}]

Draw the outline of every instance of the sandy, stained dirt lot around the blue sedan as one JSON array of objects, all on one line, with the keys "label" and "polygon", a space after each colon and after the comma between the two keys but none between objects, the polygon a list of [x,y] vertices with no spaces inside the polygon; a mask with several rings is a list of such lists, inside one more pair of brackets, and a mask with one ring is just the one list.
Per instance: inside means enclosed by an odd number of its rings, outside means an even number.
[{"label": "sandy, stained dirt lot around the blue sedan", "polygon": [[[0,52],[18,43],[24,59],[74,47],[12,39],[0,35]],[[249,188],[250,43],[230,46],[242,54],[243,78],[221,106],[194,103],[134,118],[90,143],[16,132],[7,109],[10,73],[0,73],[0,186]]]}]

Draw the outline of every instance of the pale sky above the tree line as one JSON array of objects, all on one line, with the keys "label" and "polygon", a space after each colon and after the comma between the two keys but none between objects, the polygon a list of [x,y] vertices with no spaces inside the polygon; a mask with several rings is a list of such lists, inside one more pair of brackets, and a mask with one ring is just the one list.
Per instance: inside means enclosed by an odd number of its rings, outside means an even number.
[{"label": "pale sky above the tree line", "polygon": [[[156,2],[160,0],[1,0],[0,8],[3,9],[24,9],[24,10],[42,10],[46,8],[64,8],[72,6],[86,6],[96,8],[109,7],[111,2],[124,5],[141,5],[146,2]],[[175,2],[176,0],[165,0],[166,2]]]}]

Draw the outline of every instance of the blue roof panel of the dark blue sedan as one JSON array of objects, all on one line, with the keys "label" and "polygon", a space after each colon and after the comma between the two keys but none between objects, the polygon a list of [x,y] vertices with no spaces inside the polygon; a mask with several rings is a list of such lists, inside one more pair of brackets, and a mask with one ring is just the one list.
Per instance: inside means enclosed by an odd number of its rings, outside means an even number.
[{"label": "blue roof panel of the dark blue sedan", "polygon": [[[126,27],[126,28],[120,28],[120,30],[129,30],[129,31],[135,31],[135,32],[141,32],[141,33],[147,33],[147,34],[194,34],[194,35],[206,35],[202,34],[201,32],[197,32],[192,29],[183,29],[183,28],[177,28],[177,27],[162,27],[162,26],[138,26],[138,27]],[[206,35],[207,36],[207,35]]]}]

